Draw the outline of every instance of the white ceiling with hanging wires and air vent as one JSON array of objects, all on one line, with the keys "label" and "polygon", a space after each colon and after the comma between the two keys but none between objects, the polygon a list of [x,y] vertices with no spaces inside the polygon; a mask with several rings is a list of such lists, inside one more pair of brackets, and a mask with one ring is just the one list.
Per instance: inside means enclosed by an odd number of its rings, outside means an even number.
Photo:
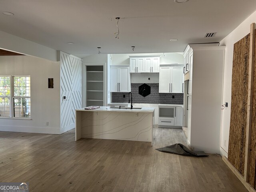
[{"label": "white ceiling with hanging wires and air vent", "polygon": [[[102,54],[183,52],[220,42],[255,10],[256,0],[0,0],[0,30],[77,56],[97,47]],[[208,32],[217,34],[204,38]]]}]

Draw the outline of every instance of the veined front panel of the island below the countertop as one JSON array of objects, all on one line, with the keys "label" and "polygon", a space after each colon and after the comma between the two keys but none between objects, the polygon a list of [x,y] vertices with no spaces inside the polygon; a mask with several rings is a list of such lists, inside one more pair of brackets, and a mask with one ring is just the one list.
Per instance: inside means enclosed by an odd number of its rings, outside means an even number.
[{"label": "veined front panel of the island below the countertop", "polygon": [[82,138],[152,142],[152,112],[82,113]]}]

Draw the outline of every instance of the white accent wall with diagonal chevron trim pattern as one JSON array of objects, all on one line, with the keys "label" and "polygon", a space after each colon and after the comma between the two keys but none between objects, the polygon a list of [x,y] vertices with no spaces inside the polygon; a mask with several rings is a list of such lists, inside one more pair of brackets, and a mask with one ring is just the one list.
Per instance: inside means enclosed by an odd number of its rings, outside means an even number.
[{"label": "white accent wall with diagonal chevron trim pattern", "polygon": [[75,110],[79,108],[82,108],[82,60],[60,52],[60,134],[75,128]]}]

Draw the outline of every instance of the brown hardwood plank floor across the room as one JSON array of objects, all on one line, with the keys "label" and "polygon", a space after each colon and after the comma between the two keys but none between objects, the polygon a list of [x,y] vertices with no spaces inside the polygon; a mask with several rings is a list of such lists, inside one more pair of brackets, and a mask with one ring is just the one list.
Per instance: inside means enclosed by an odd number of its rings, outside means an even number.
[{"label": "brown hardwood plank floor across the room", "polygon": [[220,155],[196,158],[155,148],[186,144],[181,129],[154,128],[154,144],[0,132],[0,182],[30,192],[246,192]]}]

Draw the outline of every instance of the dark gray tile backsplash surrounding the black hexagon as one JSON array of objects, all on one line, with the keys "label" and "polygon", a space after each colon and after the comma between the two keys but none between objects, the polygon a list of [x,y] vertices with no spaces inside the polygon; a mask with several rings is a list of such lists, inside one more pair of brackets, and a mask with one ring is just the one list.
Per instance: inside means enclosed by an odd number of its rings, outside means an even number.
[{"label": "dark gray tile backsplash surrounding the black hexagon", "polygon": [[[151,94],[143,97],[138,94],[139,86],[143,83],[132,83],[132,103],[152,103],[152,104],[183,104],[183,93],[159,93],[158,83],[147,83],[151,87]],[[125,94],[125,98],[123,95]],[[174,98],[172,98],[174,96]],[[128,93],[112,92],[113,103],[127,103]]]}]

